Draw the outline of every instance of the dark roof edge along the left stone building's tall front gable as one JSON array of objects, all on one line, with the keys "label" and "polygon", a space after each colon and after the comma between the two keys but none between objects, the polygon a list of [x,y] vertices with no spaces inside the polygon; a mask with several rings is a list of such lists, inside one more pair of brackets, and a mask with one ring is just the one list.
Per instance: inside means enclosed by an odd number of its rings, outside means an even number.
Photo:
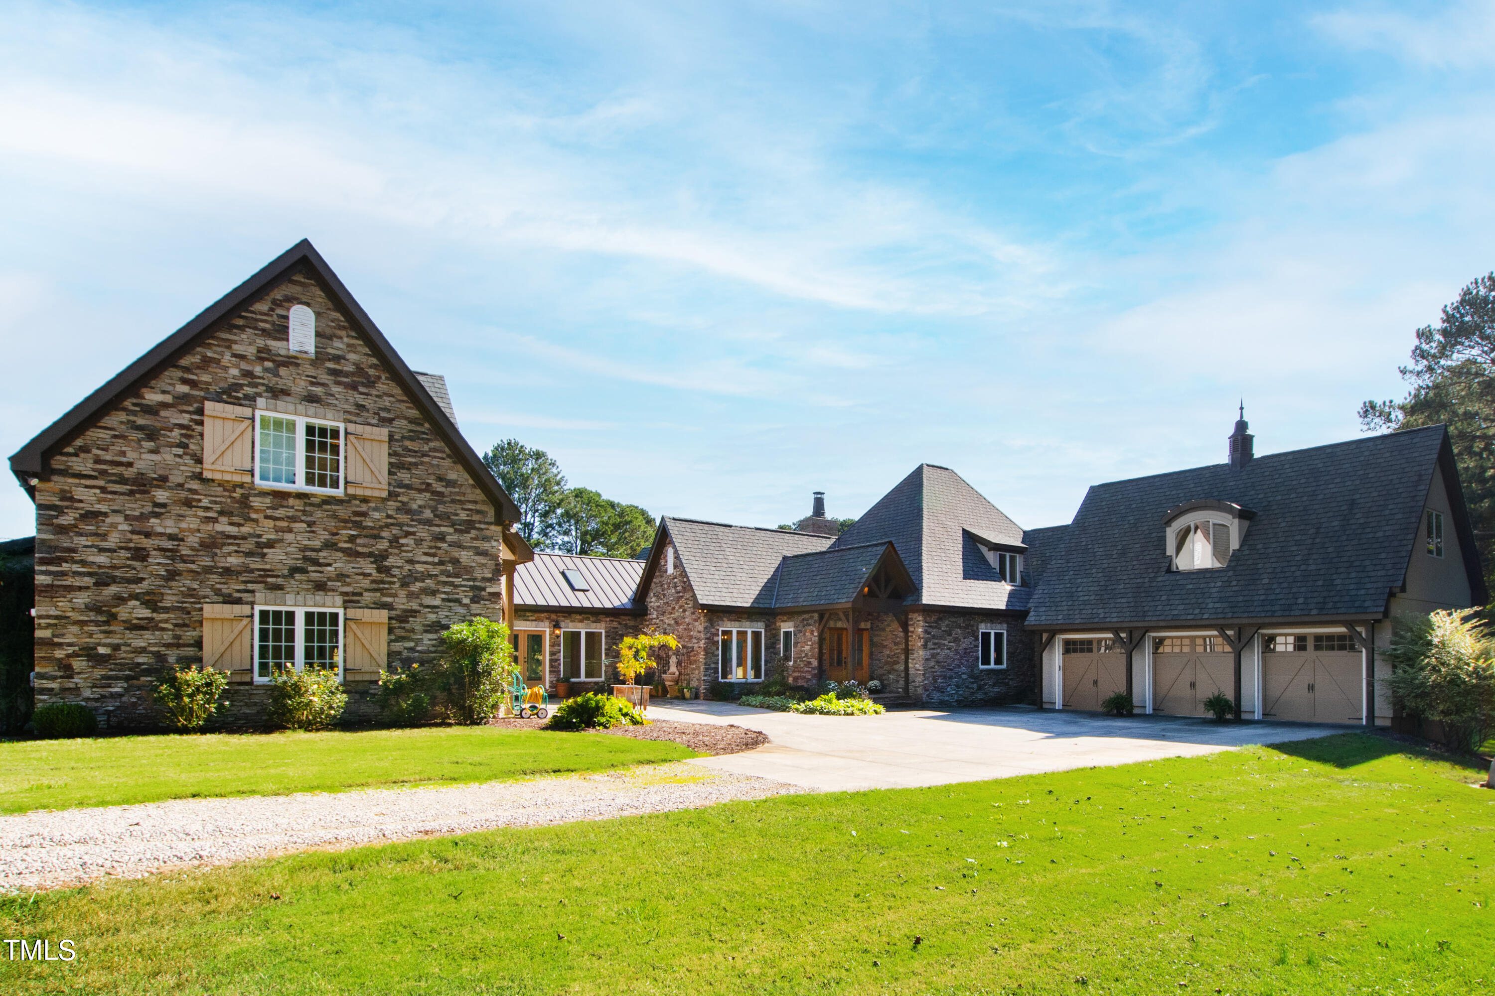
[{"label": "dark roof edge along the left stone building's tall front gable", "polygon": [[[384,333],[374,324],[374,320],[368,317],[368,312],[353,299],[348,288],[342,285],[338,275],[332,272],[327,261],[321,258],[321,254],[306,239],[293,245],[259,273],[220,297],[206,311],[158,342],[150,352],[117,373],[108,384],[81,400],[66,415],[21,446],[10,457],[10,470],[21,482],[21,487],[34,497],[30,479],[40,478],[48,472],[48,461],[54,452],[103,418],[141,384],[194,348],[203,337],[217,330],[221,321],[233,318],[245,306],[263,297],[269,290],[284,282],[298,270],[306,272],[333,305],[347,315],[353,332],[374,351],[384,370],[399,384],[411,403],[420,409],[456,461],[462,464],[478,490],[493,503],[495,521],[517,523],[519,506],[514,505],[514,500],[508,497],[489,469],[483,466],[483,461],[472,451],[472,446],[468,445],[466,439],[462,438],[462,433],[457,432],[456,421],[443,411],[443,406],[431,396],[431,391],[422,384],[420,378],[405,366],[405,361],[395,352],[395,346],[389,343]],[[447,405],[450,406],[450,399]]]}]

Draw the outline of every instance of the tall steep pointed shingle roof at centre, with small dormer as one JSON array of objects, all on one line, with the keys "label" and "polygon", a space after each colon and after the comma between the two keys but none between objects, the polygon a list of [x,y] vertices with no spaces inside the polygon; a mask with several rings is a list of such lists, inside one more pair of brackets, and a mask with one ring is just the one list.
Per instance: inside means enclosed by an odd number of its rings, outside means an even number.
[{"label": "tall steep pointed shingle roof at centre, with small dormer", "polygon": [[921,463],[842,533],[834,547],[891,542],[918,585],[910,605],[1026,609],[1032,593],[997,576],[978,544],[1023,545],[1023,530],[964,478]]}]

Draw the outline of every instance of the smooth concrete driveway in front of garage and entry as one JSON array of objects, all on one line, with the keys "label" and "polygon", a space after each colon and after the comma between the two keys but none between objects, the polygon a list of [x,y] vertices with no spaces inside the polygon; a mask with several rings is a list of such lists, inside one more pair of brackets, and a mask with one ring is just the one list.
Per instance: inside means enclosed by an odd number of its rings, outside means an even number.
[{"label": "smooth concrete driveway in front of garage and entry", "polygon": [[653,720],[736,723],[773,742],[694,765],[819,790],[910,788],[1159,757],[1193,757],[1305,741],[1357,726],[1215,723],[1180,717],[1112,718],[1020,706],[898,709],[884,715],[794,715],[725,702],[649,706]]}]

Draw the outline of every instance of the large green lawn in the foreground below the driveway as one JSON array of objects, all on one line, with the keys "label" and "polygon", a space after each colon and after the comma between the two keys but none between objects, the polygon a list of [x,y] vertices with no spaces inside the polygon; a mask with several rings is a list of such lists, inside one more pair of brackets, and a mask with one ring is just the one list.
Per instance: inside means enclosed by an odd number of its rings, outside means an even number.
[{"label": "large green lawn in the foreground below the driveway", "polygon": [[15,896],[78,960],[0,990],[1489,992],[1476,775],[1343,735]]}]

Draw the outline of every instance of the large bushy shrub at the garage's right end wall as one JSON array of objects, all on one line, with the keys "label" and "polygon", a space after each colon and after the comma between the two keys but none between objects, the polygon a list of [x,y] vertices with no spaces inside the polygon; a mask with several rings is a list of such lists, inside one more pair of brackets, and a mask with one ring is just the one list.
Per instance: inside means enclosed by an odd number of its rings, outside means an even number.
[{"label": "large bushy shrub at the garage's right end wall", "polygon": [[1444,741],[1479,750],[1495,733],[1495,641],[1471,618],[1480,609],[1398,618],[1392,645],[1392,699],[1404,712],[1443,724]]}]

